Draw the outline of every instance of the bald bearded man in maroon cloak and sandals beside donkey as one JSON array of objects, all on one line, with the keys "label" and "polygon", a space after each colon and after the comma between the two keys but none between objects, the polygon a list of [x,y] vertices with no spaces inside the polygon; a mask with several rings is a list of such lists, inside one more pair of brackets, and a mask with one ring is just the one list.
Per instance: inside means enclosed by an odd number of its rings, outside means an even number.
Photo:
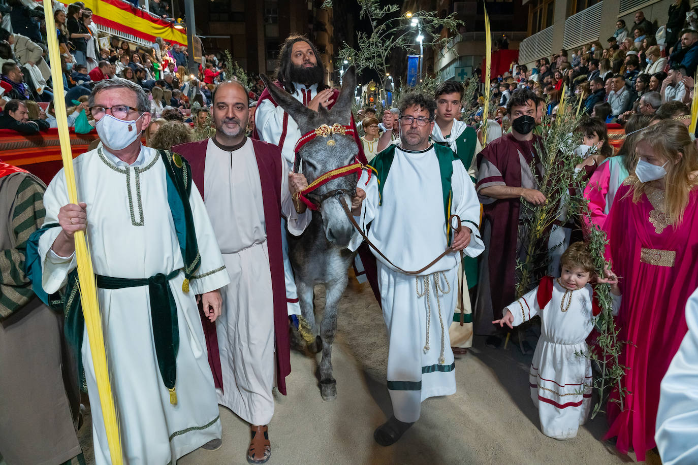
[{"label": "bald bearded man in maroon cloak and sandals beside donkey", "polygon": [[172,150],[191,162],[230,275],[221,290],[223,314],[214,324],[202,318],[218,403],[251,423],[247,459],[262,463],[271,455],[274,381],[285,395],[290,373],[280,221],[283,215],[296,235],[310,223],[311,212],[292,201],[307,182],[288,173],[278,146],[245,136],[242,84],[219,84],[212,114],[214,137]]}]

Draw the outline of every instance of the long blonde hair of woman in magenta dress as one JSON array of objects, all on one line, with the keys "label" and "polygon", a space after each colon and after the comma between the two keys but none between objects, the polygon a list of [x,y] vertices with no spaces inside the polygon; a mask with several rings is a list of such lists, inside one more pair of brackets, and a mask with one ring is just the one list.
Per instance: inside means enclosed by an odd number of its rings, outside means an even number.
[{"label": "long blonde hair of woman in magenta dress", "polygon": [[[639,134],[636,144],[647,142],[655,156],[667,160],[664,165],[667,171],[664,176],[664,211],[669,224],[681,224],[690,191],[696,185],[695,171],[698,171],[698,151],[688,135],[688,128],[680,121],[665,119]],[[648,188],[648,183],[634,178],[632,201],[637,203]]]}]

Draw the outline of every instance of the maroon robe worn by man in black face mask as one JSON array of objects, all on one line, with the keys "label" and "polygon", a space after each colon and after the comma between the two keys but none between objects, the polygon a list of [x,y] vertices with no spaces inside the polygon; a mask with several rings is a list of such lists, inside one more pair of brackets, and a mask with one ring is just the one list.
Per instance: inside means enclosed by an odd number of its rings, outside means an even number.
[{"label": "maroon robe worn by man in black face mask", "polygon": [[[534,135],[533,140],[518,141],[511,134],[503,135],[494,140],[477,154],[477,167],[482,169],[483,162],[489,162],[498,169],[497,176],[488,176],[477,179],[475,188],[487,187],[489,183],[498,183],[512,188],[521,187],[521,162],[517,151],[523,154],[523,158],[530,166],[534,160],[533,153],[538,147],[542,147],[542,139]],[[537,159],[537,155],[535,155]],[[536,166],[539,163],[536,160]],[[539,172],[540,175],[540,172]],[[483,204],[482,222],[491,224],[491,235],[489,243],[489,282],[490,288],[484,290],[484,295],[491,296],[493,315],[480,314],[476,311],[475,322],[476,334],[487,334],[484,328],[493,328],[491,321],[502,318],[504,307],[516,300],[516,268],[517,268],[517,240],[519,236],[519,213],[521,210],[521,200],[519,197],[512,199],[496,199],[489,204]],[[480,296],[482,292],[478,291]],[[482,308],[478,302],[477,308]],[[487,303],[482,303],[487,305]],[[492,318],[491,318],[492,317]],[[480,324],[477,324],[480,323]],[[477,329],[480,329],[478,331]],[[491,333],[491,331],[489,331]]]}]

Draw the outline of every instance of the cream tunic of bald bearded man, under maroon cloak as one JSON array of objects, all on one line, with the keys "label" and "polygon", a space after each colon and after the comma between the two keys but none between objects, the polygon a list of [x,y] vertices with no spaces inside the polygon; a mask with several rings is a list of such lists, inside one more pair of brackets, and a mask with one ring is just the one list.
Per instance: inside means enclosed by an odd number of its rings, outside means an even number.
[{"label": "cream tunic of bald bearded man, under maroon cloak", "polygon": [[[274,299],[262,186],[250,139],[234,152],[209,139],[204,192],[230,275],[230,284],[223,289],[225,310],[216,320],[223,374],[218,403],[252,425],[267,425],[274,414]],[[281,211],[295,235],[312,218],[310,210],[296,213],[285,169],[281,172]]]}]

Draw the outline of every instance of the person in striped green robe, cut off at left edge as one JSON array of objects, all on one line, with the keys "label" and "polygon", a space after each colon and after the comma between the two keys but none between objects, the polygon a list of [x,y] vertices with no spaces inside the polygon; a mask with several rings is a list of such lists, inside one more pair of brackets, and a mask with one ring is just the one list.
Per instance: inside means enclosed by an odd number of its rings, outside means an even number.
[{"label": "person in striped green robe, cut off at left edge", "polygon": [[10,465],[84,463],[73,423],[80,391],[70,358],[61,356],[62,315],[41,303],[24,273],[45,190],[0,162],[0,462]]}]

